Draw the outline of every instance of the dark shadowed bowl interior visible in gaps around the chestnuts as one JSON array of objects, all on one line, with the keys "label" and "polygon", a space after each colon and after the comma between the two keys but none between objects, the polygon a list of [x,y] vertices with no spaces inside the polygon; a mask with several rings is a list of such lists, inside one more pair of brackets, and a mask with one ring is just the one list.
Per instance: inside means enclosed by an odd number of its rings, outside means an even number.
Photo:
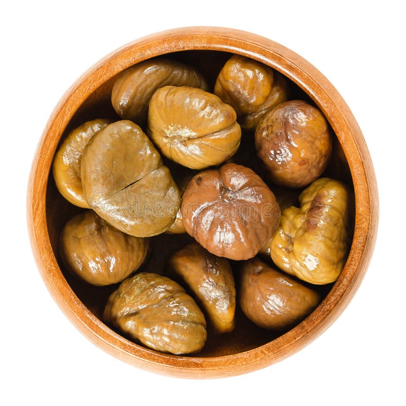
[{"label": "dark shadowed bowl interior visible in gaps around the chestnuts", "polygon": [[[221,67],[225,61],[231,56],[230,53],[222,51],[182,51],[174,52],[165,55],[166,58],[172,58],[186,62],[193,65],[199,70],[207,79],[210,88],[213,90],[214,83]],[[94,91],[77,110],[72,117],[71,121],[65,128],[61,140],[75,127],[85,121],[95,118],[112,118],[120,120],[120,117],[115,113],[111,105],[111,90],[115,78],[112,78],[105,84],[101,85]],[[288,80],[288,79],[287,79]],[[289,80],[288,80],[289,81]],[[304,99],[313,103],[312,99],[297,85],[289,81],[290,85],[290,99]],[[146,131],[146,128],[143,128]],[[255,159],[253,150],[252,134],[243,134],[244,141],[242,142],[241,149],[246,149],[249,158]],[[329,166],[327,167],[323,176],[339,179],[353,187],[351,174],[349,171],[346,158],[340,148],[340,143],[334,136],[333,143],[333,157]],[[245,154],[247,155],[247,154]],[[244,162],[241,162],[244,164]],[[269,182],[267,182],[269,184]],[[272,185],[269,185],[272,190]],[[100,321],[105,307],[105,303],[109,295],[117,289],[118,285],[111,285],[107,287],[96,287],[80,281],[69,272],[60,260],[58,253],[58,240],[60,232],[67,220],[72,218],[75,214],[83,211],[78,207],[71,205],[67,202],[57,191],[52,174],[48,177],[47,192],[46,192],[46,220],[49,238],[52,246],[53,253],[57,259],[58,265],[67,283],[72,288],[73,292],[84,304],[84,306]],[[155,272],[163,274],[163,267],[173,252],[185,246],[193,239],[187,234],[171,235],[161,234],[153,238],[152,253],[149,260],[143,265],[142,269],[147,272]],[[270,258],[268,260],[270,262]],[[234,274],[238,273],[238,264],[234,263]],[[238,278],[235,278],[236,281]],[[333,284],[318,286],[316,289],[325,297]],[[111,326],[109,326],[111,327]],[[117,333],[121,334],[119,331]],[[273,332],[266,331],[248,320],[242,313],[239,306],[236,306],[236,321],[235,329],[231,333],[214,335],[209,331],[208,341],[204,349],[197,354],[198,357],[214,357],[230,354],[237,354],[251,350],[253,348],[262,346],[270,341],[273,341],[278,336],[282,335],[284,331]],[[121,334],[122,335],[122,334]]]}]

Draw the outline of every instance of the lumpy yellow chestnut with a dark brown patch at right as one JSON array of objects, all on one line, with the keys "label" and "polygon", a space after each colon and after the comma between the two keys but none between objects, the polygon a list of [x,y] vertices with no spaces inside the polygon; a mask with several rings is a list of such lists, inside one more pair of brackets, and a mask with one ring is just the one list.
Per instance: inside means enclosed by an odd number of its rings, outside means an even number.
[{"label": "lumpy yellow chestnut with a dark brown patch at right", "polygon": [[282,212],[270,256],[279,268],[303,281],[334,282],[351,245],[353,193],[340,181],[320,178],[303,190],[299,202],[300,208]]}]

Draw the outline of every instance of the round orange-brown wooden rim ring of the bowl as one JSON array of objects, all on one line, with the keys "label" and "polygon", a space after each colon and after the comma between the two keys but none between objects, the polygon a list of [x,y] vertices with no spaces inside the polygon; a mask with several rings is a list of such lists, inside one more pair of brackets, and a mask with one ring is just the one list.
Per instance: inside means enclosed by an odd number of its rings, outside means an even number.
[{"label": "round orange-brown wooden rim ring of the bowl", "polygon": [[[355,190],[355,230],[342,274],[326,298],[299,325],[252,350],[218,357],[163,354],[132,343],[107,327],[79,300],[64,279],[48,235],[46,189],[62,133],[79,106],[97,88],[127,67],[154,56],[187,50],[244,55],[265,63],[302,88],[322,110],[347,157]],[[240,375],[278,362],[310,344],[340,316],[358,289],[374,250],[378,189],[361,130],[339,92],[307,60],[288,48],[247,31],[223,27],[184,27],[140,38],[100,59],[62,96],[52,112],[33,159],[27,191],[30,243],[40,274],[68,319],[91,342],[115,357],[156,373],[186,378]]]}]

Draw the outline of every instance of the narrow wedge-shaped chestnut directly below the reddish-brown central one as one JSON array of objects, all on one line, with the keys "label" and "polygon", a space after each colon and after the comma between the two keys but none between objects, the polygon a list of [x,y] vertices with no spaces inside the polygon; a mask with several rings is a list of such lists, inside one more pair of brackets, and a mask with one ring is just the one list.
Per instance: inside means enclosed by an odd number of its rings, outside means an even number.
[{"label": "narrow wedge-shaped chestnut directly below the reddish-brown central one", "polygon": [[226,258],[211,254],[198,243],[177,251],[166,264],[168,277],[187,286],[215,332],[234,328],[234,277]]}]

